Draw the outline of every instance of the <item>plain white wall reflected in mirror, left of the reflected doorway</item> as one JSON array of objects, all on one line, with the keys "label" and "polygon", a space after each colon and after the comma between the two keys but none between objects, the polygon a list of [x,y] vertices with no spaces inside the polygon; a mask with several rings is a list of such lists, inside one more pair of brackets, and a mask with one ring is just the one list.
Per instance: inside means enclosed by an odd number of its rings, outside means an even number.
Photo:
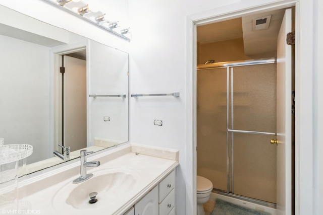
[{"label": "plain white wall reflected in mirror, left of the reflected doorway", "polygon": [[0,35],[0,136],[5,144],[30,144],[28,163],[49,152],[49,48]]}]

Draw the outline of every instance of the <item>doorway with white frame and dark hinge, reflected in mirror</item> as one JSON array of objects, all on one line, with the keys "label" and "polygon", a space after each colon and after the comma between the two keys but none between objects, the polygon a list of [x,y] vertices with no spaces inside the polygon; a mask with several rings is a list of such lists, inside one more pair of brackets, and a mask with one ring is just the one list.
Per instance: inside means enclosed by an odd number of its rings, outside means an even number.
[{"label": "doorway with white frame and dark hinge, reflected in mirror", "polygon": [[56,57],[60,69],[55,69],[54,149],[61,152],[62,147],[70,147],[73,152],[87,147],[86,48],[65,51]]}]

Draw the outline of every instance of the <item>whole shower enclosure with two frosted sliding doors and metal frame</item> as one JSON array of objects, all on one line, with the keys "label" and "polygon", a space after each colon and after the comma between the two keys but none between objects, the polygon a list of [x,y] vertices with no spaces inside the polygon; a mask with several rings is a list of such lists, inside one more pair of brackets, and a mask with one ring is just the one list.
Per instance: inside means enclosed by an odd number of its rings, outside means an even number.
[{"label": "whole shower enclosure with two frosted sliding doors and metal frame", "polygon": [[197,67],[197,174],[213,191],[276,206],[276,61]]}]

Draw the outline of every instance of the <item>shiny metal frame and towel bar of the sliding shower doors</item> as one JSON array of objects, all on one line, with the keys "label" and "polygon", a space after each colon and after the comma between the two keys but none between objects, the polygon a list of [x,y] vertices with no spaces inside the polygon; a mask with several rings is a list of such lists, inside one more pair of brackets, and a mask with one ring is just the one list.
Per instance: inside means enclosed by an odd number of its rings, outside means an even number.
[{"label": "shiny metal frame and towel bar of the sliding shower doors", "polygon": [[[231,105],[230,105],[230,86],[233,87],[233,77],[231,75],[230,79],[230,68],[231,73],[233,73],[233,67],[237,66],[248,66],[248,65],[259,65],[259,64],[269,64],[276,63],[276,58],[260,58],[252,60],[239,60],[231,62],[219,62],[210,64],[197,65],[197,70],[205,70],[211,68],[226,68],[227,69],[227,191],[213,188],[213,192],[223,194],[226,196],[235,197],[248,202],[256,203],[259,205],[276,208],[276,203],[267,202],[259,199],[250,198],[247,196],[242,196],[234,193],[234,144],[233,144],[233,134],[237,133],[250,133],[250,134],[263,134],[263,135],[277,135],[276,132],[262,132],[262,131],[249,131],[249,130],[235,130],[230,129],[230,111],[231,111],[231,125],[233,125],[233,90],[231,89]],[[231,83],[230,83],[231,80]],[[230,85],[231,84],[231,85]],[[230,155],[230,135],[231,135],[231,155]],[[230,160],[231,156],[231,160]],[[231,162],[230,162],[231,161]],[[230,175],[230,164],[231,164],[231,175]],[[230,177],[231,176],[231,177]],[[231,180],[230,180],[231,178]]]}]

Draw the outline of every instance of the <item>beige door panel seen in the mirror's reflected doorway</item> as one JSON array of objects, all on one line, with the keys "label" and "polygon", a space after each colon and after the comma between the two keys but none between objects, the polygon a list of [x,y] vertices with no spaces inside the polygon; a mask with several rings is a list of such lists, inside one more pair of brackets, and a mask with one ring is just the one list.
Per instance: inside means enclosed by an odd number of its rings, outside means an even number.
[{"label": "beige door panel seen in the mirror's reflected doorway", "polygon": [[62,86],[65,92],[63,142],[73,152],[87,147],[86,50],[62,57],[65,58],[65,78]]}]

